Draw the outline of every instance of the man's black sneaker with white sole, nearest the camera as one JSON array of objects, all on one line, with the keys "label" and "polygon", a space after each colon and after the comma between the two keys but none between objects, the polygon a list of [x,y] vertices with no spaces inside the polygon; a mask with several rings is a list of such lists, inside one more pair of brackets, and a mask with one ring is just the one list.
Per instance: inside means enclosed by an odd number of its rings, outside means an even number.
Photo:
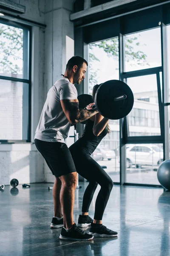
[{"label": "man's black sneaker with white sole, nearest the camera", "polygon": [[93,236],[79,229],[79,227],[74,223],[69,231],[65,230],[63,227],[59,238],[63,240],[88,241],[93,239]]}]

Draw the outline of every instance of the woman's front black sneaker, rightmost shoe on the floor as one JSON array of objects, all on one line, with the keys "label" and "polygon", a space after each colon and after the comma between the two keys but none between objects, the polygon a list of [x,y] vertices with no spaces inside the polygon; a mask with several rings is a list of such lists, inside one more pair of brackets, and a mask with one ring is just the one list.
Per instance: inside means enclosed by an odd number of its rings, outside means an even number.
[{"label": "woman's front black sneaker, rightmost shoe on the floor", "polygon": [[94,235],[94,237],[113,237],[117,236],[117,232],[108,229],[107,227],[100,225],[99,227],[94,226],[91,224],[89,234]]}]

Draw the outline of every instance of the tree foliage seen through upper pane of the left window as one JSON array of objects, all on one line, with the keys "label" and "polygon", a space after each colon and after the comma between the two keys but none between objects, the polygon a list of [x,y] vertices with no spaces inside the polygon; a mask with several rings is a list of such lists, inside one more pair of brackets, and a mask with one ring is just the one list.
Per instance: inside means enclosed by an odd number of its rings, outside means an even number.
[{"label": "tree foliage seen through upper pane of the left window", "polygon": [[23,29],[0,24],[0,73],[22,74]]}]

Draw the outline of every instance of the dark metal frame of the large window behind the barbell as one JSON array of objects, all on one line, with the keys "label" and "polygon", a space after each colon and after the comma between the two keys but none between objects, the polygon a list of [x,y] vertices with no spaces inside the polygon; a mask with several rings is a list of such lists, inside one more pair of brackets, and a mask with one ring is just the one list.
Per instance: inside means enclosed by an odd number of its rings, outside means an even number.
[{"label": "dark metal frame of the large window behind the barbell", "polygon": [[[161,188],[161,185],[156,184],[141,184],[141,183],[127,183],[126,182],[126,145],[129,144],[163,144],[164,160],[169,159],[169,116],[168,116],[168,85],[167,85],[167,35],[166,26],[170,24],[170,3],[162,4],[159,6],[150,6],[149,9],[135,10],[130,14],[117,15],[108,19],[101,19],[99,21],[93,21],[87,24],[75,23],[74,35],[75,35],[75,55],[81,55],[88,59],[88,44],[96,41],[107,40],[109,38],[119,37],[119,80],[121,80],[121,74],[124,72],[125,55],[124,55],[124,42],[123,37],[127,34],[141,32],[148,29],[154,29],[161,27],[161,72],[162,77],[160,81],[160,73],[157,75],[157,81],[159,80],[158,94],[161,102],[162,113],[161,122],[161,136],[132,136],[127,141],[128,133],[128,116],[119,120],[120,127],[120,182],[116,184],[130,185],[130,186],[153,186]],[[140,22],[139,22],[140,17]],[[140,70],[144,72],[144,70]],[[162,83],[161,83],[162,82]],[[157,82],[158,84],[158,82]],[[78,93],[82,94],[87,91],[88,82],[82,84],[83,86],[78,89]],[[148,113],[146,113],[148,115]],[[79,134],[83,129],[79,130]],[[152,134],[151,134],[152,135]]]}]

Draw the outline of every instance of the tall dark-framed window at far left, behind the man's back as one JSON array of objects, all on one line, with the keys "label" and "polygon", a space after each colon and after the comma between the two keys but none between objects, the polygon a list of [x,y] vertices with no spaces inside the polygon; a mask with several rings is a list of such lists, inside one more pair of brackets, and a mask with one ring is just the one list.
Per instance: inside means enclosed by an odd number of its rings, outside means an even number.
[{"label": "tall dark-framed window at far left, behind the man's back", "polygon": [[30,141],[30,29],[0,23],[0,141]]}]

